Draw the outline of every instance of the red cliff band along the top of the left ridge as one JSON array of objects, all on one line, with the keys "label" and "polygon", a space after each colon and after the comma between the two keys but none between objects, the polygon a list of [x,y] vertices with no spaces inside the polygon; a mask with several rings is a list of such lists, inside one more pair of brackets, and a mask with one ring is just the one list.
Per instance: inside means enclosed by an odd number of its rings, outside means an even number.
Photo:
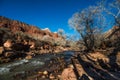
[{"label": "red cliff band along the top of the left ridge", "polygon": [[30,36],[34,36],[38,39],[45,35],[49,35],[53,39],[58,38],[58,34],[52,33],[48,28],[41,30],[36,26],[28,25],[16,20],[11,20],[3,16],[0,16],[0,28],[8,28],[13,33],[23,32],[28,35],[30,34]]}]

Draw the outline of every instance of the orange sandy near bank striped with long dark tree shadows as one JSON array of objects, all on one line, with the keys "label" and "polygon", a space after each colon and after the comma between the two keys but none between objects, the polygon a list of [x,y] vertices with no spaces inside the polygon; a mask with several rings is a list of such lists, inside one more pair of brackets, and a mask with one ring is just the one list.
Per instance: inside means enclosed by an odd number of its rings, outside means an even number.
[{"label": "orange sandy near bank striped with long dark tree shadows", "polygon": [[73,68],[63,70],[62,80],[119,80],[120,52],[76,52],[71,58]]}]

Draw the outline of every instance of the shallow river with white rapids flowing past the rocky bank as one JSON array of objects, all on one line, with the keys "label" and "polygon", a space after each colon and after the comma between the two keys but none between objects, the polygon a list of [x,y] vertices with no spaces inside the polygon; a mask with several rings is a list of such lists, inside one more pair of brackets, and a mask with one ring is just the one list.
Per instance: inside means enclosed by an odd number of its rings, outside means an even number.
[{"label": "shallow river with white rapids flowing past the rocky bank", "polygon": [[54,57],[63,56],[65,61],[70,60],[70,57],[74,54],[74,52],[67,51],[60,54],[44,54],[37,55],[30,60],[22,59],[16,60],[9,63],[0,64],[0,80],[14,80],[13,76],[16,74],[24,74],[27,71],[36,70],[38,68],[42,68],[46,61]]}]

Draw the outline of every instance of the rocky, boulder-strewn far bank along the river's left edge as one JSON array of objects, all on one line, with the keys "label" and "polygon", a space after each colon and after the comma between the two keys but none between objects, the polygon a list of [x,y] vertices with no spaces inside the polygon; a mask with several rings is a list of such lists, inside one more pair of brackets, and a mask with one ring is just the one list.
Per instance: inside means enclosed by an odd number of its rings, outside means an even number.
[{"label": "rocky, boulder-strewn far bank along the river's left edge", "polygon": [[[26,48],[25,45],[19,45],[19,49]],[[22,48],[20,48],[20,46]],[[15,60],[21,60],[21,59],[31,59],[37,55],[43,55],[43,54],[59,54],[65,51],[70,51],[70,48],[63,48],[63,47],[55,47],[55,49],[30,49],[28,51],[24,50],[16,50],[12,48],[5,48],[3,46],[0,47],[0,64],[2,63],[9,63]]]}]

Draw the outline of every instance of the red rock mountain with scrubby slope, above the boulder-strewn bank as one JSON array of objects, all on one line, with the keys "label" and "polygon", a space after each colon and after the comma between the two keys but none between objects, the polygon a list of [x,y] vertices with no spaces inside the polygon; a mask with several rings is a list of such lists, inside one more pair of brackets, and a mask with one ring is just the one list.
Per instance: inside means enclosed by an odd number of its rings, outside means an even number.
[{"label": "red rock mountain with scrubby slope, above the boulder-strewn bank", "polygon": [[[3,45],[7,40],[11,39],[15,43],[24,43],[31,45],[58,45],[65,46],[66,40],[58,33],[51,32],[49,28],[40,29],[36,26],[26,24],[17,20],[12,20],[0,16],[0,45]],[[39,44],[38,44],[39,43]]]}]

